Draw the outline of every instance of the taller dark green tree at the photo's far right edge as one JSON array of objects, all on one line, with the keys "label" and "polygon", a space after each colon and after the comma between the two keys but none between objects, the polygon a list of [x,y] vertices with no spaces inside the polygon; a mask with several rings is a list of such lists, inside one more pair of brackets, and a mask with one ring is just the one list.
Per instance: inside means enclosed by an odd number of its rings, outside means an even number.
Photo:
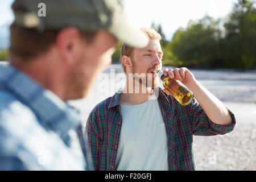
[{"label": "taller dark green tree at the photo's far right edge", "polygon": [[256,9],[255,1],[239,0],[225,22],[222,41],[224,67],[256,68]]}]

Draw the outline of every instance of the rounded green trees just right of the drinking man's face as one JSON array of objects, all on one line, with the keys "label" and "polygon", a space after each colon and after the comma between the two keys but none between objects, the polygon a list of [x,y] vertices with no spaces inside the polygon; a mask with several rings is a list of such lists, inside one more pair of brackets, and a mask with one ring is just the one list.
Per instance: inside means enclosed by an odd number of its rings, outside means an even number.
[{"label": "rounded green trees just right of the drinking man's face", "polygon": [[185,29],[179,28],[168,45],[168,49],[173,52],[175,65],[200,68],[219,65],[219,26],[220,20],[205,16],[199,21],[191,20]]}]

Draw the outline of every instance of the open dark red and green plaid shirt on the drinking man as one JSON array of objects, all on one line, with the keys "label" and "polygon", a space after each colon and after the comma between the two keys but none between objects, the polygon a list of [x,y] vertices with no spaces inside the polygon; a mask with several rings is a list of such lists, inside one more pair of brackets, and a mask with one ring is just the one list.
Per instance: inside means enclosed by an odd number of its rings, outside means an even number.
[{"label": "open dark red and green plaid shirt on the drinking man", "polygon": [[[90,113],[86,123],[86,136],[95,170],[112,171],[116,168],[117,150],[122,127],[119,93],[100,102]],[[163,115],[168,139],[169,170],[195,170],[193,135],[210,136],[226,134],[234,129],[232,124],[217,125],[210,121],[203,108],[194,99],[181,106],[172,96],[159,89],[158,104]],[[134,148],[135,150],[135,148]]]}]

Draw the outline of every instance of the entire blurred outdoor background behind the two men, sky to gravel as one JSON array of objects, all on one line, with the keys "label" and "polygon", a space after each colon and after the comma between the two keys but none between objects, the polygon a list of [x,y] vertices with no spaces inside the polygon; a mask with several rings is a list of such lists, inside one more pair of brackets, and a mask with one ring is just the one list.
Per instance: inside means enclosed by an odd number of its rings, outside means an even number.
[{"label": "entire blurred outdoor background behind the two men, sky to gravel", "polygon": [[[2,63],[8,60],[12,2],[0,1]],[[162,35],[164,67],[189,68],[237,118],[230,134],[193,138],[197,170],[256,170],[255,0],[124,2],[134,26],[153,27]],[[123,74],[120,47],[113,55],[113,64],[104,71],[109,77],[113,70]],[[71,103],[86,119],[98,102],[112,96],[123,84],[124,79],[112,77],[106,82],[98,78],[88,97]]]}]

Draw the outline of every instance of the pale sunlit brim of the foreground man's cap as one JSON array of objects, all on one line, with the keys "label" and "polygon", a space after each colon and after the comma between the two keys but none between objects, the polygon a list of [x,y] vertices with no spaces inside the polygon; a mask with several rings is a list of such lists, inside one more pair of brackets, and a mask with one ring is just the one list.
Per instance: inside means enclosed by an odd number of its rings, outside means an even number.
[{"label": "pale sunlit brim of the foreground man's cap", "polygon": [[142,30],[129,23],[125,14],[115,16],[109,32],[121,42],[135,48],[144,48],[149,43],[149,38]]}]

